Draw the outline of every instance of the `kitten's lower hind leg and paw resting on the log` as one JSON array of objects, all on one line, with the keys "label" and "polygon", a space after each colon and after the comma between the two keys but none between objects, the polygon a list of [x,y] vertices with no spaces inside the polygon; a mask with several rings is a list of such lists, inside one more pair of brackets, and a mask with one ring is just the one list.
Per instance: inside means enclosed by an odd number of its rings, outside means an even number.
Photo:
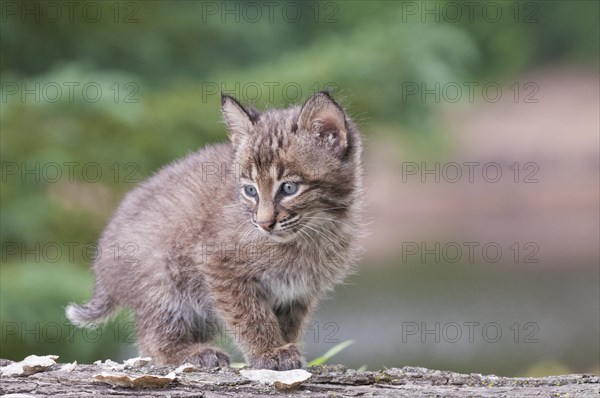
[{"label": "kitten's lower hind leg and paw resting on the log", "polygon": [[190,331],[183,320],[177,322],[164,324],[154,320],[149,325],[148,320],[138,321],[140,355],[150,356],[157,365],[229,366],[227,354],[208,343],[214,333]]}]

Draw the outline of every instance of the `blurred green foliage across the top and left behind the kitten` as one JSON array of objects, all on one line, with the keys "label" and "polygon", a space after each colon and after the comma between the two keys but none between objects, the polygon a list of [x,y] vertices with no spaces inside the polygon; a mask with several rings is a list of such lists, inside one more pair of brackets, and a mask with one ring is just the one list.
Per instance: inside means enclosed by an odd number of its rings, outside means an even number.
[{"label": "blurred green foliage across the top and left behind the kitten", "polygon": [[[367,134],[377,121],[389,130],[435,137],[440,126],[431,104],[404,100],[403,82],[505,79],[550,62],[598,62],[598,2],[527,2],[533,14],[516,2],[497,2],[504,17],[494,23],[481,12],[472,21],[428,17],[425,23],[408,13],[414,4],[444,2],[291,2],[303,15],[295,22],[282,17],[290,2],[279,4],[272,21],[265,13],[257,22],[209,14],[207,4],[224,2],[96,2],[104,17],[94,23],[79,12],[69,21],[65,10],[59,21],[8,13],[7,7],[23,3],[39,2],[2,1],[0,24],[0,357],[12,359],[34,352],[81,362],[128,355],[119,350],[129,345],[115,343],[109,333],[91,345],[66,337],[73,330],[63,325],[64,306],[91,293],[83,247],[96,241],[135,182],[226,138],[221,89],[263,108],[301,102],[331,87]],[[74,3],[78,10],[87,4]],[[525,23],[524,15],[533,20]],[[70,98],[73,82],[78,86]],[[102,89],[98,101],[82,95],[90,82]],[[273,96],[270,84],[277,84]],[[36,85],[40,99],[22,95],[23,87],[35,91]],[[54,85],[62,88],[56,102],[48,100]],[[252,91],[257,86],[260,96]],[[76,164],[72,179],[65,162]],[[82,169],[90,163],[101,171],[97,179],[95,168]],[[48,164],[61,166],[62,177],[46,178],[54,176]],[[23,174],[27,168],[34,171]],[[64,242],[78,246],[73,258],[65,250],[56,262],[31,254],[49,242],[63,250]],[[49,322],[62,325],[57,341],[35,338],[35,332],[23,338],[22,329],[13,333],[7,326]]]}]

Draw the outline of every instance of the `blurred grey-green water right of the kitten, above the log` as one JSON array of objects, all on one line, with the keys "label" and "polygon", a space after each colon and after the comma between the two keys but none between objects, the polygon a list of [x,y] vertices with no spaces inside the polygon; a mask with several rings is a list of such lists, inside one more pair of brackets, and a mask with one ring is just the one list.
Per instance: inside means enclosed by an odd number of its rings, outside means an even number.
[{"label": "blurred grey-green water right of the kitten, above the log", "polygon": [[[332,362],[516,376],[552,359],[573,372],[589,372],[598,364],[599,272],[575,271],[510,264],[364,265],[321,307],[315,317],[320,339],[309,331],[307,351],[314,357],[334,341],[355,339]],[[328,323],[335,328],[325,329]]]}]

